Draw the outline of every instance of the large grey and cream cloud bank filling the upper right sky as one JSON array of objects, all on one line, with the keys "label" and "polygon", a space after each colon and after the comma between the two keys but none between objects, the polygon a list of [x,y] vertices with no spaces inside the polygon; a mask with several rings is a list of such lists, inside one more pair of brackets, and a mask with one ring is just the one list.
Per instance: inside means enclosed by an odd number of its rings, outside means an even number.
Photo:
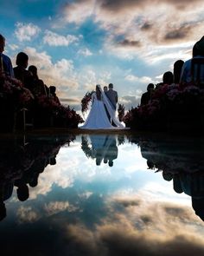
[{"label": "large grey and cream cloud bank filling the upper right sky", "polygon": [[[204,30],[201,4],[201,0],[194,3],[184,0],[74,1],[66,5],[64,20],[83,23],[91,18],[100,29],[107,31],[104,48],[116,56],[126,60],[137,56],[144,61],[154,58],[153,62],[164,62],[165,59],[169,61],[169,44],[200,39],[198,34],[202,35]],[[163,49],[156,59],[150,52],[160,46]],[[176,60],[176,56],[170,59]]]}]

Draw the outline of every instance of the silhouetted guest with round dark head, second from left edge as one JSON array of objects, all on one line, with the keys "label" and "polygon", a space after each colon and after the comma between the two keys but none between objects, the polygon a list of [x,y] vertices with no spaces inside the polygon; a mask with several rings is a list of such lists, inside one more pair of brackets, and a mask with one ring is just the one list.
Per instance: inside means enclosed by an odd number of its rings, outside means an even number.
[{"label": "silhouetted guest with round dark head, second from left edge", "polygon": [[19,52],[16,56],[16,65],[14,68],[15,77],[22,82],[27,89],[32,89],[31,74],[27,70],[29,64],[29,56],[24,52]]}]

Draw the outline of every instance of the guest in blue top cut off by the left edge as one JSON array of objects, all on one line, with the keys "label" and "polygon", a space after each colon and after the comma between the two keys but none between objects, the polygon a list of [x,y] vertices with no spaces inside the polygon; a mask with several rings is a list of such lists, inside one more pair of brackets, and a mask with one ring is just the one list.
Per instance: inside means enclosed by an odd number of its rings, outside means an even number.
[{"label": "guest in blue top cut off by the left edge", "polygon": [[5,38],[0,35],[0,71],[3,72],[5,75],[14,77],[14,70],[10,61],[10,57],[3,54],[4,47]]}]

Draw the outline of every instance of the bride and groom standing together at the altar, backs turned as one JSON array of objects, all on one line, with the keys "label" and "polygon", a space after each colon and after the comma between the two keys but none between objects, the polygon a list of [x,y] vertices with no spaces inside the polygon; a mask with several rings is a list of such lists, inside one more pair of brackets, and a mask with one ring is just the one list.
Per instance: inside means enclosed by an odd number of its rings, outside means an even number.
[{"label": "bride and groom standing together at the altar, backs turned", "polygon": [[104,92],[100,85],[96,85],[92,93],[92,108],[82,129],[124,129],[124,125],[118,121],[116,116],[116,105],[118,93],[113,90],[112,83],[109,89]]}]

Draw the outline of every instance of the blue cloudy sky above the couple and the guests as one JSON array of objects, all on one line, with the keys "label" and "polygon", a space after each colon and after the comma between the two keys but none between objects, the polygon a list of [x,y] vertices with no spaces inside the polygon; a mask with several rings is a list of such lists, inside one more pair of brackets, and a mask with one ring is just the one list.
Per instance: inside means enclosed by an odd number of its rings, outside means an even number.
[{"label": "blue cloudy sky above the couple and the guests", "polygon": [[202,0],[0,0],[5,54],[29,55],[62,103],[80,109],[96,84],[113,83],[136,107],[150,82],[188,60],[203,36]]}]

